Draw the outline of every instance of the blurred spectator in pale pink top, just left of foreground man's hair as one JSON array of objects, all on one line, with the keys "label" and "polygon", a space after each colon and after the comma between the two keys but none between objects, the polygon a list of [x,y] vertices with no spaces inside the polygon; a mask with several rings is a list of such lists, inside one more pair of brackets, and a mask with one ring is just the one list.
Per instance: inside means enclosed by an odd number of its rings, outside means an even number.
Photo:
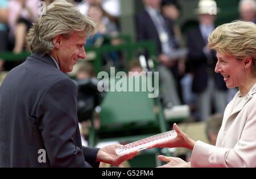
[{"label": "blurred spectator in pale pink top, just left of foreground man's hair", "polygon": [[32,23],[39,17],[39,0],[10,0],[10,36],[14,39],[14,53],[21,53],[26,47],[26,36]]}]

